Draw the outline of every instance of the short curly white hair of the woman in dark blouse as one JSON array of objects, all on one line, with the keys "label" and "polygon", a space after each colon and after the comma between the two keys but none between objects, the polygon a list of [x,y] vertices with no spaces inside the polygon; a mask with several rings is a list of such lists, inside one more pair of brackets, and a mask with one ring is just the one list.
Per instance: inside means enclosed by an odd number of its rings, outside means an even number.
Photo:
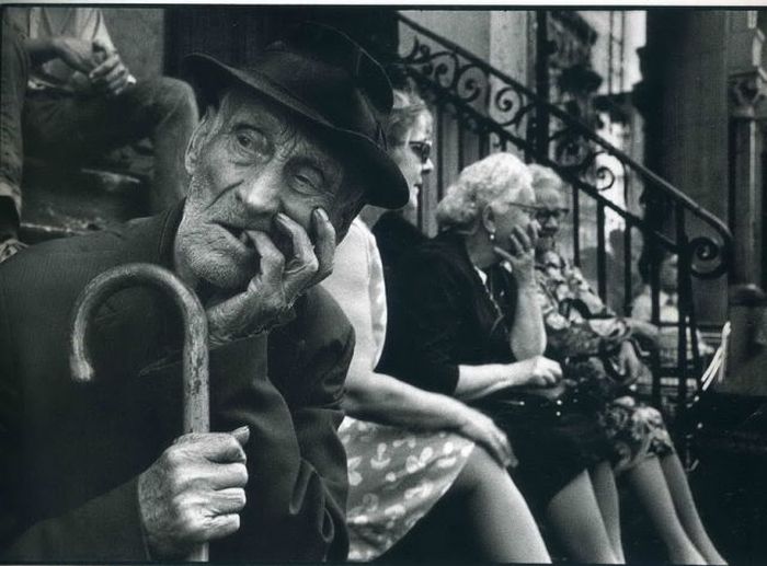
[{"label": "short curly white hair of the woman in dark blouse", "polygon": [[473,231],[480,211],[497,198],[530,187],[530,171],[508,152],[493,153],[463,169],[437,205],[442,230]]}]

